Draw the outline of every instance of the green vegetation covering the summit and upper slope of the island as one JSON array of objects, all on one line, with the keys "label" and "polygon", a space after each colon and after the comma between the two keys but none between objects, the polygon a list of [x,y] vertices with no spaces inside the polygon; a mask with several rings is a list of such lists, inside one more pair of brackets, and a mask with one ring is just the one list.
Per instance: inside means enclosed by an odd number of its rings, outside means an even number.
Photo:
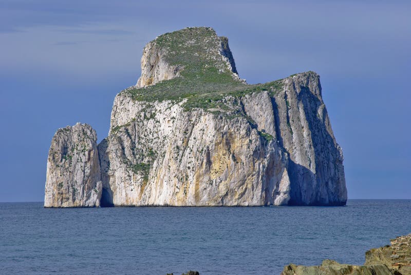
[{"label": "green vegetation covering the summit and upper slope of the island", "polygon": [[165,33],[153,43],[159,51],[165,52],[167,63],[180,68],[180,76],[153,86],[130,87],[123,91],[136,101],[181,102],[185,99],[183,107],[186,110],[224,110],[220,101],[226,96],[239,97],[258,91],[268,91],[273,96],[283,89],[283,80],[255,85],[241,81],[218,50],[227,46],[227,38],[218,37],[212,28],[186,28]]}]

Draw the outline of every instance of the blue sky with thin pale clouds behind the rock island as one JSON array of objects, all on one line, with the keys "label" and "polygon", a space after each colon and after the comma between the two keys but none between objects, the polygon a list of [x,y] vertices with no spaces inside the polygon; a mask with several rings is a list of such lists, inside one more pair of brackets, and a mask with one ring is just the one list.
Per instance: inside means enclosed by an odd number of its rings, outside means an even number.
[{"label": "blue sky with thin pale clouds behind the rock island", "polygon": [[240,77],[314,70],[349,199],[411,199],[409,1],[0,1],[0,202],[43,201],[60,127],[107,135],[144,45],[192,26],[229,37]]}]

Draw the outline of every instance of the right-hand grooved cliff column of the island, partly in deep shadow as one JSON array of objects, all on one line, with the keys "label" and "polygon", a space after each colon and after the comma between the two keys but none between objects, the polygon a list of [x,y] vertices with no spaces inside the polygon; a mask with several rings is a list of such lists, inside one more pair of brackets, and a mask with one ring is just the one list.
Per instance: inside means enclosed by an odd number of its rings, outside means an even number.
[{"label": "right-hand grooved cliff column of the island, partly in deep shadow", "polygon": [[273,98],[277,140],[289,153],[292,205],[345,205],[343,153],[331,129],[320,76],[300,73],[284,80]]}]

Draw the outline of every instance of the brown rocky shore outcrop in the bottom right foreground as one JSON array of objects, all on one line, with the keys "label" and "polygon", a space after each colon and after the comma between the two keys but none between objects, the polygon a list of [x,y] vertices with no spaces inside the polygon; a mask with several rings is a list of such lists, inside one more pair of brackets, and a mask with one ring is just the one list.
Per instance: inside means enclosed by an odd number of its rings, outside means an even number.
[{"label": "brown rocky shore outcrop in the bottom right foreground", "polygon": [[410,275],[411,274],[411,234],[391,240],[391,245],[365,252],[363,266],[339,264],[324,260],[321,266],[290,264],[284,267],[282,275]]}]

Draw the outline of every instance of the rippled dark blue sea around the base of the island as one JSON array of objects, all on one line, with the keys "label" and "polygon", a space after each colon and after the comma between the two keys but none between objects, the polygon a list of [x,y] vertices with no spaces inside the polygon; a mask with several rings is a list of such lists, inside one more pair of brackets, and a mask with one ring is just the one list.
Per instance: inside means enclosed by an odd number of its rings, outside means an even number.
[{"label": "rippled dark blue sea around the base of the island", "polygon": [[0,274],[280,274],[411,233],[411,200],[342,207],[45,209],[0,203]]}]

